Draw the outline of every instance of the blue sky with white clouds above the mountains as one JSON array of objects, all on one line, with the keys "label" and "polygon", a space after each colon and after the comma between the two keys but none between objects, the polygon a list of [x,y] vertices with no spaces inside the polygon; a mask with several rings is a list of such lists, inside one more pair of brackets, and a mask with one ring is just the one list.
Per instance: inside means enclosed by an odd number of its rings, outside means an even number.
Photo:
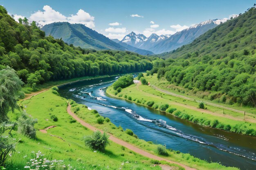
[{"label": "blue sky with white clouds above the mountains", "polygon": [[254,3],[255,0],[0,0],[0,5],[16,18],[27,17],[42,25],[55,21],[82,23],[119,39],[131,31],[146,36],[173,34],[205,20],[243,13]]}]

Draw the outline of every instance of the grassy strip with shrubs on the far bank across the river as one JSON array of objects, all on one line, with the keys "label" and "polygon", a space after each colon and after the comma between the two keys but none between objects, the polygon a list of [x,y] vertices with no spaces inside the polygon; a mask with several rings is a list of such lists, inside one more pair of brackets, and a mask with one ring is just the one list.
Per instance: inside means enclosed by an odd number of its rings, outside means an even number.
[{"label": "grassy strip with shrubs on the far bank across the river", "polygon": [[[147,78],[148,77],[146,77],[146,79]],[[197,102],[164,94],[150,86],[132,84],[122,89],[120,93],[117,93],[112,87],[109,87],[107,93],[114,97],[127,99],[144,106],[166,111],[181,119],[187,119],[202,126],[219,128],[243,135],[256,135],[256,123],[254,123],[255,118],[253,117],[250,117],[250,122],[248,122],[244,121],[243,114],[230,110],[227,110],[225,114],[223,114],[223,109],[209,105],[205,106],[207,109],[199,109]],[[150,103],[153,103],[153,105]],[[164,105],[166,105],[166,108],[163,109]]]}]

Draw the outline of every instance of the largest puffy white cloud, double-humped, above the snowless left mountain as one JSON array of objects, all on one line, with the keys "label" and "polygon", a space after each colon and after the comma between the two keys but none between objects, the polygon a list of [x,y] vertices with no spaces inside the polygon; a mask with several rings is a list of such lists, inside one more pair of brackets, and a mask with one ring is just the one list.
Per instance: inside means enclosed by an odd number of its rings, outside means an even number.
[{"label": "largest puffy white cloud, double-humped, above the snowless left mountain", "polygon": [[66,17],[58,11],[52,9],[52,7],[45,5],[43,7],[44,11],[36,11],[31,14],[29,20],[36,21],[38,24],[44,26],[45,24],[50,24],[53,22],[70,22],[71,24],[79,23],[88,26],[89,28],[94,28],[94,17],[89,13],[80,9],[75,15],[70,15]]}]

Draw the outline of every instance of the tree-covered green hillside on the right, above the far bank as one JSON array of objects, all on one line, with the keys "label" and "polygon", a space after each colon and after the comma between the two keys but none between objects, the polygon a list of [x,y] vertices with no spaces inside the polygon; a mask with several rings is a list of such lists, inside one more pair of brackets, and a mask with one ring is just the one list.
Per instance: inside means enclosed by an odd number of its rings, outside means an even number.
[{"label": "tree-covered green hillside on the right, above the far bank", "polygon": [[[256,9],[220,24],[191,44],[162,54],[151,73],[207,99],[256,107]],[[227,100],[227,98],[229,100]]]}]

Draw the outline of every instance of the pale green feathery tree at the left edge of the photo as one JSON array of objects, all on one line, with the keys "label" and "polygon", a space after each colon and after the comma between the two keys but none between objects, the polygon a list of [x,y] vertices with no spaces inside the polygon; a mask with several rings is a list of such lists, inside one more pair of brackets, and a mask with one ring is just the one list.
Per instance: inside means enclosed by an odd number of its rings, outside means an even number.
[{"label": "pale green feathery tree at the left edge of the photo", "polygon": [[15,71],[7,66],[0,71],[0,123],[7,121],[7,113],[18,108],[16,99],[19,95],[23,82]]}]

